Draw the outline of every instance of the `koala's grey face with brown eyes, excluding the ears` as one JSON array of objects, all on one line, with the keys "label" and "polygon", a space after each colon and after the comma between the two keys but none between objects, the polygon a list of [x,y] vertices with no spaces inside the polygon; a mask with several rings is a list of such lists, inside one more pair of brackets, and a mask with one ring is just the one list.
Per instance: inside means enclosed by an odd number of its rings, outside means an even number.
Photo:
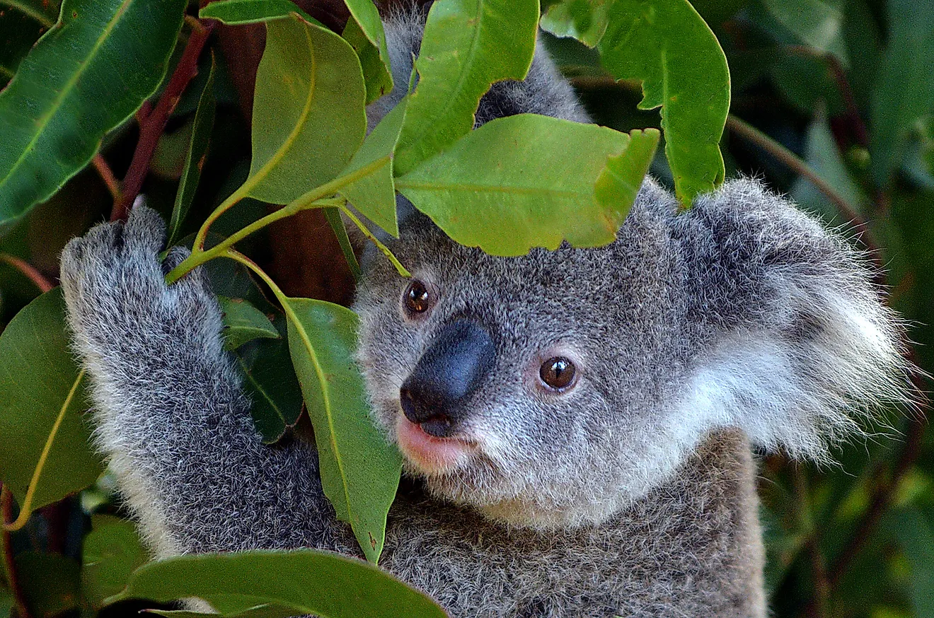
[{"label": "koala's grey face with brown eyes, excluding the ears", "polygon": [[611,246],[489,256],[420,215],[368,264],[355,309],[378,424],[436,496],[511,525],[598,523],[696,435],[666,413],[686,365],[670,201]]}]

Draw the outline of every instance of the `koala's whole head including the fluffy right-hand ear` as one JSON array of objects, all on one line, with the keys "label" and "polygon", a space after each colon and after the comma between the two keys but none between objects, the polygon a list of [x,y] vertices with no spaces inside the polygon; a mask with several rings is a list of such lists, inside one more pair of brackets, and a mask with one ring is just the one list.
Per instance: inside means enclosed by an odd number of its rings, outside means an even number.
[{"label": "koala's whole head including the fluffy right-hand ear", "polygon": [[355,309],[375,418],[436,497],[600,523],[715,428],[825,456],[903,399],[898,322],[856,251],[757,183],[679,214],[651,180],[615,243],[502,258],[414,214]]}]

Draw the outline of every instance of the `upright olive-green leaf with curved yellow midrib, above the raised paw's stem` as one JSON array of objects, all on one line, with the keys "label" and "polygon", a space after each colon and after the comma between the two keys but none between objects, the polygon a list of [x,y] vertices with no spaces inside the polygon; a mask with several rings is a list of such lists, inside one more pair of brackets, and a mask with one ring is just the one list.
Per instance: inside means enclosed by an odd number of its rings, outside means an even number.
[{"label": "upright olive-green leaf with curved yellow midrib, above the raised paw's stem", "polygon": [[253,160],[236,191],[289,204],[340,173],[366,133],[357,54],[297,15],[266,23],[253,98]]}]

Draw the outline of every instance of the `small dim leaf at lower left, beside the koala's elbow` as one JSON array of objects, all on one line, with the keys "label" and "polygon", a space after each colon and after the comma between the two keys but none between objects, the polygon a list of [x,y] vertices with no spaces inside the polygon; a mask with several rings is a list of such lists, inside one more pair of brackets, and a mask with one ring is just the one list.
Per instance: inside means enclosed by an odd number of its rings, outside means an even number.
[{"label": "small dim leaf at lower left, beside the koala's elbow", "polygon": [[147,551],[132,522],[94,515],[93,529],[81,542],[81,590],[95,608],[120,593],[134,569],[147,562]]}]

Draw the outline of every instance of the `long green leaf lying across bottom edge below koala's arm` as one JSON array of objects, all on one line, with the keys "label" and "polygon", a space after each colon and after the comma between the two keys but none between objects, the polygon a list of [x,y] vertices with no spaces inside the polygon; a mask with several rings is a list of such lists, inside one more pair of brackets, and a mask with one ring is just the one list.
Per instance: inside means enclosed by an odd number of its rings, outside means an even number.
[{"label": "long green leaf lying across bottom edge below koala's arm", "polygon": [[429,597],[388,573],[313,550],[170,558],[137,569],[120,595],[160,602],[184,597],[202,598],[223,615],[269,604],[322,618],[446,617]]}]

